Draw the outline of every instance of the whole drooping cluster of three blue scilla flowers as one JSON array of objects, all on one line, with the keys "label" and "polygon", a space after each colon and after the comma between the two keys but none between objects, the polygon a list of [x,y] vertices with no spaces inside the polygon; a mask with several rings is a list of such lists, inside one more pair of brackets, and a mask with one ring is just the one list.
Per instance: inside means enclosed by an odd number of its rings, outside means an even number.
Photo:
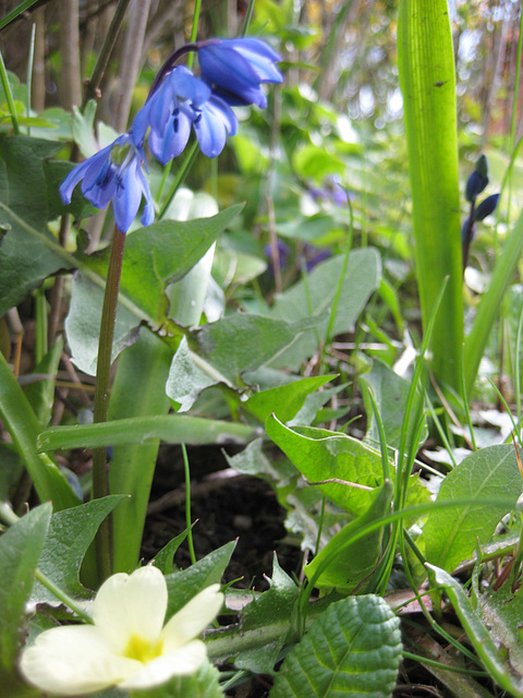
[{"label": "whole drooping cluster of three blue scilla flowers", "polygon": [[[190,51],[198,55],[200,75],[177,65]],[[234,106],[267,106],[263,83],[281,83],[275,63],[280,57],[265,41],[254,38],[209,39],[187,44],[163,63],[149,96],[129,133],[75,167],[60,186],[64,204],[82,182],[84,196],[97,208],[112,200],[114,220],[126,232],[145,198],[141,221],[155,219],[149,185],[144,174],[144,143],[162,165],[180,155],[191,131],[207,157],[216,157],[234,135]]]}]

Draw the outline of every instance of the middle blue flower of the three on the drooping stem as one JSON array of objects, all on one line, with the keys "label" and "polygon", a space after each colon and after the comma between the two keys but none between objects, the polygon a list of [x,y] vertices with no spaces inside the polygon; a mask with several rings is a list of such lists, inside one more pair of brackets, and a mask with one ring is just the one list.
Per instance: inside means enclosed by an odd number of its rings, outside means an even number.
[{"label": "middle blue flower of the three on the drooping stem", "polygon": [[137,143],[143,143],[148,127],[150,152],[167,165],[185,148],[191,127],[202,153],[216,157],[227,136],[236,133],[238,120],[229,105],[212,94],[206,83],[179,65],[167,74],[136,115],[132,133]]}]

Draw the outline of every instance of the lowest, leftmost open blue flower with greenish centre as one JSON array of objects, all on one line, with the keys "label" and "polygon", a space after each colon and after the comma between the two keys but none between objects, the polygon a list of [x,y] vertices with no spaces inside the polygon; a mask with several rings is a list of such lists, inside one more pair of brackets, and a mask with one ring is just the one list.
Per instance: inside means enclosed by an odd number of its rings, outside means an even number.
[{"label": "lowest, leftmost open blue flower with greenish centre", "polygon": [[112,200],[118,229],[126,232],[145,197],[141,220],[149,226],[155,219],[155,208],[142,169],[143,161],[142,149],[125,133],[71,170],[60,185],[62,202],[71,203],[73,190],[82,181],[82,193],[93,206],[105,208]]}]

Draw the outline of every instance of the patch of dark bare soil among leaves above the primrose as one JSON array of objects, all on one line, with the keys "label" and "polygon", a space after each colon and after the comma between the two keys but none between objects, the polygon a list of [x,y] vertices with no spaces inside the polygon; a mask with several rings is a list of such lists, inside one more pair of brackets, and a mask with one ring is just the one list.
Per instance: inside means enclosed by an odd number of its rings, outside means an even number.
[{"label": "patch of dark bare soil among leaves above the primrose", "polygon": [[[197,519],[193,528],[194,546],[199,559],[211,551],[236,540],[236,547],[226,570],[224,581],[238,580],[235,587],[268,588],[276,552],[280,566],[299,573],[301,551],[284,539],[285,510],[272,488],[259,478],[238,474],[229,469],[221,448],[209,446],[188,449],[191,466],[191,514]],[[154,557],[163,545],[185,529],[185,484],[180,447],[160,449],[146,520],[142,554]],[[188,549],[180,546],[174,563],[191,564]]]}]

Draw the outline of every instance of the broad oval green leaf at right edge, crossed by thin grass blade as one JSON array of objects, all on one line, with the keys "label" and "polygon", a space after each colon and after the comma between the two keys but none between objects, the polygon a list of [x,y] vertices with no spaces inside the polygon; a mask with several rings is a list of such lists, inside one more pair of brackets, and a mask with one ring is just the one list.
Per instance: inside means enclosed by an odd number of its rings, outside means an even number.
[{"label": "broad oval green leaf at right edge, crossed by thin grass blade", "polygon": [[477,544],[486,543],[507,506],[485,506],[481,500],[513,500],[521,494],[521,473],[512,445],[489,446],[470,455],[446,477],[438,502],[475,500],[477,505],[454,506],[429,512],[423,528],[426,558],[452,571],[473,556]]}]

